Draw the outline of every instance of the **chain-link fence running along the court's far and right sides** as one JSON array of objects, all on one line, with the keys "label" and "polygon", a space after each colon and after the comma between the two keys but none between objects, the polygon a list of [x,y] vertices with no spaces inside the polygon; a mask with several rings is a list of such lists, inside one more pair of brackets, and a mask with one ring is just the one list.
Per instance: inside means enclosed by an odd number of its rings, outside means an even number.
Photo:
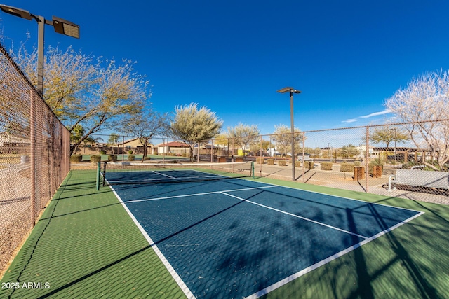
[{"label": "chain-link fence running along the court's far and right sides", "polygon": [[[449,120],[432,120],[296,132],[293,138],[288,133],[211,139],[191,145],[153,138],[147,160],[252,160],[258,177],[449,204],[448,144]],[[135,137],[120,136],[114,144],[102,146],[103,153],[118,154],[117,160],[142,157],[142,144]],[[86,148],[78,151],[86,153]]]}]

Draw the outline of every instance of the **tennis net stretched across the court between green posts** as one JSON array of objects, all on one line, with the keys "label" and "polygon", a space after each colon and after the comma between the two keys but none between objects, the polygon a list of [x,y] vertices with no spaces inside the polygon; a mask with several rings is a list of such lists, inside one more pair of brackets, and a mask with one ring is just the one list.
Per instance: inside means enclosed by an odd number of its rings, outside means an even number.
[{"label": "tennis net stretched across the court between green posts", "polygon": [[253,162],[140,163],[103,162],[98,167],[102,185],[177,183],[254,178]]}]

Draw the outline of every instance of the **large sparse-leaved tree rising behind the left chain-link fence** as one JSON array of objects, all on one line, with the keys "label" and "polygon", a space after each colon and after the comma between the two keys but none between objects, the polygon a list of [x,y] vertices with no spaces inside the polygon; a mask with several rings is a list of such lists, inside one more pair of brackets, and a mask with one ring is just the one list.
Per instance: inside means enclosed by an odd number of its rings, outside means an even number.
[{"label": "large sparse-leaved tree rising behind the left chain-link fence", "polygon": [[[22,47],[13,57],[36,85],[36,48],[27,53]],[[101,57],[94,62],[90,55],[72,48],[65,52],[48,48],[43,98],[70,132],[78,125],[85,130],[72,148],[99,130],[114,129],[123,117],[140,112],[151,93],[145,76],[135,74],[134,64],[123,60],[117,65]]]}]

